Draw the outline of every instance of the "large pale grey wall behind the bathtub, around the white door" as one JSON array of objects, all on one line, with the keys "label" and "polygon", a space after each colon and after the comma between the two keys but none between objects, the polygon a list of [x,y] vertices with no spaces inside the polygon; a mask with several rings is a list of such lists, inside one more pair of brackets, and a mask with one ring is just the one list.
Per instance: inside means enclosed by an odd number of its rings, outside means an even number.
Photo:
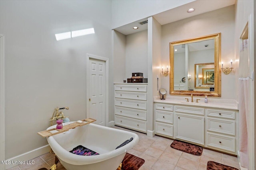
[{"label": "large pale grey wall behind the bathtub, around the white door", "polygon": [[[107,57],[112,65],[110,23],[110,1],[0,1],[6,159],[47,145],[37,132],[50,125],[56,106],[70,107],[63,112],[72,121],[86,117],[86,53]],[[95,34],[61,41],[54,36],[90,27]],[[109,87],[113,117],[112,80]]]}]

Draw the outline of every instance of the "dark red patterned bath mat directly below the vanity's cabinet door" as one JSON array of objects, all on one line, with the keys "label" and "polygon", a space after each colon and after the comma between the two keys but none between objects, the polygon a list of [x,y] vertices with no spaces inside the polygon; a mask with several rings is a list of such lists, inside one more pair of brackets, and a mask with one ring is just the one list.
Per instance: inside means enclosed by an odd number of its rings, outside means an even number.
[{"label": "dark red patterned bath mat directly below the vanity's cabinet door", "polygon": [[177,149],[180,150],[182,152],[186,152],[189,154],[193,154],[195,156],[201,156],[202,152],[203,152],[203,148],[190,144],[190,143],[186,143],[183,141],[178,141],[178,140],[174,140],[171,144],[171,147],[173,149]]}]

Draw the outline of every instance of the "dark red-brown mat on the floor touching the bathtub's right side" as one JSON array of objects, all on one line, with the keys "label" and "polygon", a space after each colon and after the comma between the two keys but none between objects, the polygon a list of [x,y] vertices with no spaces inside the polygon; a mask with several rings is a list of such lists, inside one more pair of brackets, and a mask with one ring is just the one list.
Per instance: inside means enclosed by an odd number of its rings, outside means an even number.
[{"label": "dark red-brown mat on the floor touching the bathtub's right side", "polygon": [[133,154],[126,153],[122,161],[122,170],[138,170],[144,164],[145,160],[134,156]]}]

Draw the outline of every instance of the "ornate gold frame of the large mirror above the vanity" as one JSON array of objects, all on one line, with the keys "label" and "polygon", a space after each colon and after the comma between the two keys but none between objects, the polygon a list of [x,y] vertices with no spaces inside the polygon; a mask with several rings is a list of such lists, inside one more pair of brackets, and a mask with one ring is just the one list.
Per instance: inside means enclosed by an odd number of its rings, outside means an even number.
[{"label": "ornate gold frame of the large mirror above the vanity", "polygon": [[[210,91],[190,91],[190,90],[175,90],[174,91],[174,45],[193,43],[214,39],[214,92]],[[170,43],[170,95],[195,95],[195,96],[212,96],[221,97],[221,33],[206,35],[203,37],[174,41]]]}]

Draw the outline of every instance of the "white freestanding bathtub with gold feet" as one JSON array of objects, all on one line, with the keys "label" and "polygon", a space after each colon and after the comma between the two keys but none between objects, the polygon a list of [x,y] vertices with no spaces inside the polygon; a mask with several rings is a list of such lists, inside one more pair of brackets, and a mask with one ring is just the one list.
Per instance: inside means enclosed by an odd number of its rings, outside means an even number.
[{"label": "white freestanding bathtub with gold feet", "polygon": [[[56,125],[48,129],[54,127]],[[133,137],[133,140],[130,143],[116,149],[116,147],[131,137]],[[116,170],[127,150],[138,143],[139,137],[132,132],[90,123],[58,135],[47,137],[47,141],[60,160],[60,163],[67,170]],[[80,156],[69,152],[78,145],[82,145],[99,154]]]}]

